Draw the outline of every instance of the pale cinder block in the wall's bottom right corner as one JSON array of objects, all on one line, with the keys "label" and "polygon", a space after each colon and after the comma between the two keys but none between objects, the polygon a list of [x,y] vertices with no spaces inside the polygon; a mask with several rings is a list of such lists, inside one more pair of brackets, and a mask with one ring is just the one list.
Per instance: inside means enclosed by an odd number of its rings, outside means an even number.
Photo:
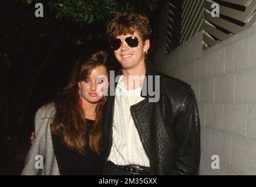
[{"label": "pale cinder block in the wall's bottom right corner", "polygon": [[246,175],[256,175],[256,141],[233,136],[231,147],[231,167]]}]

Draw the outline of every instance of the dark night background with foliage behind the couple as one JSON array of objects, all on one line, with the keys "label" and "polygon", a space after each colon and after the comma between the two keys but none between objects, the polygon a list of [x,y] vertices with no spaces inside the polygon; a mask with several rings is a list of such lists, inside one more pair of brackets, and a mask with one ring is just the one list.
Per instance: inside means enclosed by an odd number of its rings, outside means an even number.
[{"label": "dark night background with foliage behind the couple", "polygon": [[[43,18],[35,4],[43,4]],[[110,70],[119,65],[105,36],[117,12],[144,12],[157,38],[164,1],[1,1],[0,2],[0,175],[19,175],[30,146],[36,110],[68,83],[73,63],[85,49],[105,50]]]}]

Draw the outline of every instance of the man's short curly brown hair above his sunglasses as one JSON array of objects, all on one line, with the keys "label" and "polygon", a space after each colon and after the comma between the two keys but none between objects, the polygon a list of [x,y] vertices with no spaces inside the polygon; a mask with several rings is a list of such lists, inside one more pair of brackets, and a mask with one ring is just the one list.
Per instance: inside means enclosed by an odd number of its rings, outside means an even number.
[{"label": "man's short curly brown hair above his sunglasses", "polygon": [[107,36],[112,39],[122,34],[133,34],[137,31],[143,41],[150,39],[149,19],[143,13],[117,13],[107,25]]}]

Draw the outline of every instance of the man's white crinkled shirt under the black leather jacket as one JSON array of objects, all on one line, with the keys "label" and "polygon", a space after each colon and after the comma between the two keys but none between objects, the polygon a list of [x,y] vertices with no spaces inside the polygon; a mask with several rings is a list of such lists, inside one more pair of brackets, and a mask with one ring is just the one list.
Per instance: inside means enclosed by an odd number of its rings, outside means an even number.
[{"label": "man's white crinkled shirt under the black leather jacket", "polygon": [[123,76],[116,86],[113,119],[113,142],[108,160],[116,165],[150,167],[149,158],[140,141],[130,113],[130,106],[142,101],[142,88],[127,90]]}]

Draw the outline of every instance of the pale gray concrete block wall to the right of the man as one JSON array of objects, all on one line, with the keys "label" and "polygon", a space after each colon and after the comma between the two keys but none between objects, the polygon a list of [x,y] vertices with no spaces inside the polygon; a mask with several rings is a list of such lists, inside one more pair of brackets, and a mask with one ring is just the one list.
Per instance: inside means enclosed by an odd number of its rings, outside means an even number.
[{"label": "pale gray concrete block wall to the right of the man", "polygon": [[[202,50],[198,33],[157,70],[188,82],[201,121],[200,175],[256,175],[256,26]],[[161,57],[160,57],[161,56]],[[213,169],[212,155],[220,158]]]}]

